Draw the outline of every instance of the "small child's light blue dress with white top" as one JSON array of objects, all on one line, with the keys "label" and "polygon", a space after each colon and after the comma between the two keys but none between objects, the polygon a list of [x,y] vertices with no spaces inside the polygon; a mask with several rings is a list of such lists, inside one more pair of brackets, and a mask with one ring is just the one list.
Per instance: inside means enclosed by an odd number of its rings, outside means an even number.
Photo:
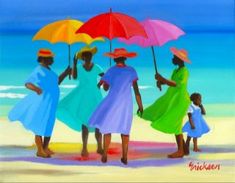
[{"label": "small child's light blue dress with white top", "polygon": [[201,114],[201,108],[191,104],[188,110],[189,113],[192,114],[192,120],[195,126],[195,129],[191,129],[190,122],[187,121],[183,126],[182,131],[187,132],[189,137],[198,138],[201,137],[203,134],[210,131],[206,121],[203,119]]}]

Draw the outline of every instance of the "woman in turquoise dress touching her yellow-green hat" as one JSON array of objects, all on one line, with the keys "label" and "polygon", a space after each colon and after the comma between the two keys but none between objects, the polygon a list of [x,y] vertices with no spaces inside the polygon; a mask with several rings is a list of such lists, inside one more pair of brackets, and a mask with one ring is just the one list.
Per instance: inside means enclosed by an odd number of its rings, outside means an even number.
[{"label": "woman in turquoise dress touching her yellow-green hat", "polygon": [[[75,55],[72,75],[78,81],[78,85],[59,102],[57,110],[57,118],[60,121],[75,131],[82,131],[83,148],[81,155],[83,157],[89,155],[87,149],[88,135],[89,131],[94,131],[94,128],[88,126],[88,119],[102,100],[97,83],[100,76],[103,75],[103,70],[99,65],[92,63],[92,56],[96,52],[96,47],[83,47]],[[82,59],[84,64],[77,66],[78,59]],[[97,140],[97,153],[102,154],[102,135],[97,128],[95,129],[95,138]]]}]

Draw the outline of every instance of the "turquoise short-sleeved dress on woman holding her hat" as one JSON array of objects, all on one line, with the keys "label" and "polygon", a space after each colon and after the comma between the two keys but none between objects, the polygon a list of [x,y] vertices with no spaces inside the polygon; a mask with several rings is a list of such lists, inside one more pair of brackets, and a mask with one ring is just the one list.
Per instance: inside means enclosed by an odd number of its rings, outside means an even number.
[{"label": "turquoise short-sleeved dress on woman holding her hat", "polygon": [[[57,118],[73,130],[81,131],[82,125],[89,128],[88,120],[102,100],[97,83],[103,70],[97,64],[90,71],[78,65],[77,72],[78,85],[59,102]],[[89,128],[89,131],[94,129]]]}]

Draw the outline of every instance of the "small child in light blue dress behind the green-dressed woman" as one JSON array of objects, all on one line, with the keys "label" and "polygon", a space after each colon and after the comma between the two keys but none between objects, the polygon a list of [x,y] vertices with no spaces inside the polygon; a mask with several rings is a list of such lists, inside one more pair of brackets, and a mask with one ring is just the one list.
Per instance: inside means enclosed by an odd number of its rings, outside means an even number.
[{"label": "small child in light blue dress behind the green-dressed woman", "polygon": [[185,123],[182,131],[188,133],[186,140],[188,149],[190,140],[191,138],[193,138],[193,151],[200,152],[201,150],[198,148],[197,139],[203,134],[208,133],[210,131],[210,128],[202,117],[202,115],[206,114],[206,110],[202,105],[201,94],[193,93],[190,96],[190,99],[192,101],[192,104],[188,109],[189,121]]}]

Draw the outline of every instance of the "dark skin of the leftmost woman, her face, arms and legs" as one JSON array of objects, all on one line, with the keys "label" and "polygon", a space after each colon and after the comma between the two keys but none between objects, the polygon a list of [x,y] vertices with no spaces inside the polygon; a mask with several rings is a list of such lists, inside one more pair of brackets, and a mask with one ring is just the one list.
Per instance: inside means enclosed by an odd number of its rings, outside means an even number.
[{"label": "dark skin of the leftmost woman, her face, arms and legs", "polygon": [[[40,63],[41,66],[47,68],[50,70],[50,67],[53,64],[53,57],[39,57],[38,62]],[[66,76],[68,76],[71,73],[71,68],[68,67],[63,73],[60,74],[59,79],[58,79],[58,85],[64,80]],[[32,83],[26,83],[25,84],[26,88],[35,91],[38,95],[40,95],[43,90],[39,88],[38,86],[32,84]],[[42,157],[50,157],[50,155],[54,154],[53,151],[51,151],[48,148],[49,142],[50,142],[51,137],[44,137],[44,140],[42,139],[41,136],[36,135],[35,136],[35,141],[38,141],[42,144],[44,152],[38,152],[40,156]],[[46,154],[44,154],[46,153]]]}]

